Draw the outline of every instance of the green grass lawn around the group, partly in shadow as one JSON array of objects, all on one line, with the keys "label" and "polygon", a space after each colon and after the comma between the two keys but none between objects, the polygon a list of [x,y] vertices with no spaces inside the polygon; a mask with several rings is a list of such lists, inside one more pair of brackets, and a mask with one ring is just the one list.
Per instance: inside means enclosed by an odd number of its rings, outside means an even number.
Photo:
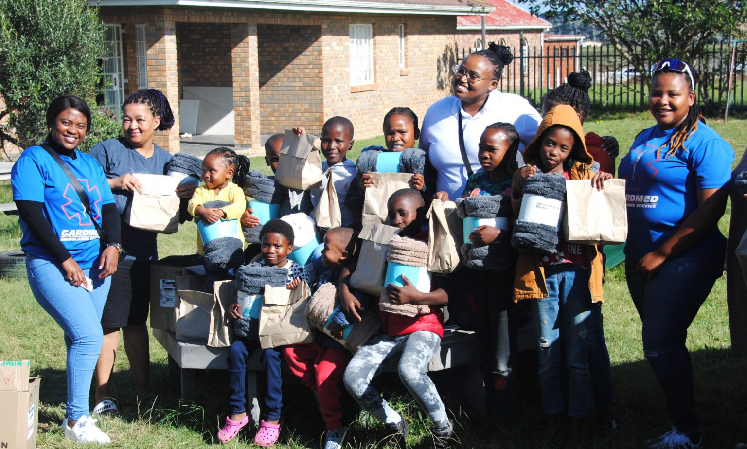
[{"label": "green grass lawn around the group, partly in shadow", "polygon": [[[710,120],[741,157],[747,144],[747,120],[730,120],[727,124]],[[586,131],[618,138],[621,155],[629,148],[633,137],[653,121],[648,114],[619,114],[612,119],[590,119]],[[382,137],[356,143],[350,158],[356,158],[366,145],[382,144]],[[264,167],[261,158],[252,159],[255,168]],[[10,201],[10,188],[0,185],[0,202]],[[729,209],[719,223],[727,231]],[[161,256],[191,253],[195,245],[196,227],[187,223],[175,235],[159,238]],[[20,230],[15,217],[0,217],[0,250],[19,247]],[[708,448],[733,448],[747,441],[747,359],[731,352],[726,306],[725,278],[719,279],[689,329],[688,347],[692,353],[695,391],[701,426]],[[75,448],[63,439],[59,427],[65,400],[65,349],[63,334],[55,321],[37,305],[25,280],[0,279],[0,297],[5,306],[0,317],[0,359],[31,359],[34,371],[42,377],[40,397],[40,448]],[[640,321],[630,302],[622,266],[607,273],[605,284],[604,324],[607,346],[613,364],[615,404],[614,415],[619,430],[613,434],[595,432],[593,419],[586,425],[584,448],[639,448],[642,439],[650,438],[669,428],[669,418],[662,392],[643,359]],[[533,372],[532,353],[524,353],[520,396],[511,439],[515,448],[539,448],[537,436],[543,429],[539,385]],[[158,394],[155,406],[144,406],[138,412],[129,365],[120,344],[120,357],[114,374],[114,395],[120,406],[117,417],[100,418],[99,424],[113,439],[112,448],[195,448],[217,445],[215,431],[228,411],[226,376],[223,372],[205,372],[199,376],[201,391],[196,403],[179,400],[179,385],[169,377],[167,354],[152,339],[153,391]],[[458,373],[455,377],[459,377]],[[382,380],[394,385],[391,377]],[[458,386],[458,385],[457,385]],[[317,412],[311,393],[297,385],[285,385],[285,428],[279,448],[317,448],[320,445],[323,421]],[[456,389],[452,385],[452,391]],[[393,388],[395,405],[408,418],[411,445],[424,442],[427,422],[424,413],[406,397],[401,388]],[[1,406],[1,404],[0,404]],[[93,406],[93,404],[92,404]],[[453,410],[459,415],[459,410]],[[459,435],[465,447],[479,447],[480,429],[459,415]],[[593,412],[592,412],[593,416]],[[364,419],[352,424],[353,446],[376,448],[382,427]],[[249,445],[253,433],[244,431],[231,448]]]}]

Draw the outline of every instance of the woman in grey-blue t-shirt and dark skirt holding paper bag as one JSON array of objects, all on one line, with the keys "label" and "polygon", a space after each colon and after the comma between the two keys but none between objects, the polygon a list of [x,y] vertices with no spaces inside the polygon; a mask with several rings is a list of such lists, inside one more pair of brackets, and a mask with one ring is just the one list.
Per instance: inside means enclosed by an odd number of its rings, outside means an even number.
[{"label": "woman in grey-blue t-shirt and dark skirt holding paper bag", "polygon": [[[158,260],[158,234],[135,229],[124,218],[132,192],[142,188],[133,173],[167,174],[167,164],[173,156],[153,143],[153,135],[155,131],[168,131],[173,124],[171,105],[161,90],[140,90],[128,96],[122,105],[124,137],[105,140],[90,151],[90,155],[104,168],[109,187],[114,193],[122,217],[122,246],[127,251],[120,270],[112,278],[111,291],[101,319],[104,344],[96,364],[96,406],[93,413],[117,412],[117,405],[111,399],[109,382],[120,344],[120,329],[135,394],[138,402],[146,400],[150,375],[146,325],[150,306],[150,264]],[[176,193],[188,200],[196,186],[194,182],[182,183]]]}]

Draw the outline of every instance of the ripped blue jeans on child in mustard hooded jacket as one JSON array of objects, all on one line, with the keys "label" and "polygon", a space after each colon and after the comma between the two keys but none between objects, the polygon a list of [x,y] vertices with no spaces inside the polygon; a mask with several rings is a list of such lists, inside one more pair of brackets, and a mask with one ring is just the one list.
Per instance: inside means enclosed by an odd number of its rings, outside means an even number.
[{"label": "ripped blue jeans on child in mustard hooded jacket", "polygon": [[548,415],[563,410],[560,369],[565,353],[568,374],[568,416],[589,415],[589,272],[581,265],[545,267],[548,297],[530,300],[534,328],[539,337],[539,385],[542,409]]}]

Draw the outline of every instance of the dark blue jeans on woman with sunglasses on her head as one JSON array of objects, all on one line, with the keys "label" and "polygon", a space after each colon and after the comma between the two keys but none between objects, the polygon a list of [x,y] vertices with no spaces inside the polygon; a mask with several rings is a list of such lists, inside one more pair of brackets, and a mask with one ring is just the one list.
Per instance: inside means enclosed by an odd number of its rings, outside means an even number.
[{"label": "dark blue jeans on woman with sunglasses on her head", "polygon": [[693,257],[672,258],[651,279],[625,264],[630,297],[642,321],[643,355],[666,396],[675,427],[698,428],[687,328],[724,270],[725,247]]}]

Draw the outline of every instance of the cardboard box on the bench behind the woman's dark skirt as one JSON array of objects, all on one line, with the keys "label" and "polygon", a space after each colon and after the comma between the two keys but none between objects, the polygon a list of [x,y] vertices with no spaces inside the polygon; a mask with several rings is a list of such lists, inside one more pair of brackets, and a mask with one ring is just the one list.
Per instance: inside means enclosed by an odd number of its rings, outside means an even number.
[{"label": "cardboard box on the bench behind the woman's dark skirt", "polygon": [[187,274],[187,267],[202,267],[202,256],[168,256],[150,266],[150,326],[173,331],[176,306],[176,276]]}]

